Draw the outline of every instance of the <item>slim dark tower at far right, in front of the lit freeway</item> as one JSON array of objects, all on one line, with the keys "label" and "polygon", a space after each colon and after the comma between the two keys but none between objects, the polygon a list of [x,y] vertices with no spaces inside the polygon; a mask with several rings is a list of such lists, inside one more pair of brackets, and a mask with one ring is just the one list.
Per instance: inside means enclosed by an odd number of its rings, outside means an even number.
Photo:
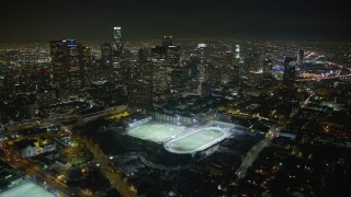
[{"label": "slim dark tower at far right, in front of the lit freeway", "polygon": [[296,58],[284,58],[283,85],[286,90],[293,90],[296,78]]}]

